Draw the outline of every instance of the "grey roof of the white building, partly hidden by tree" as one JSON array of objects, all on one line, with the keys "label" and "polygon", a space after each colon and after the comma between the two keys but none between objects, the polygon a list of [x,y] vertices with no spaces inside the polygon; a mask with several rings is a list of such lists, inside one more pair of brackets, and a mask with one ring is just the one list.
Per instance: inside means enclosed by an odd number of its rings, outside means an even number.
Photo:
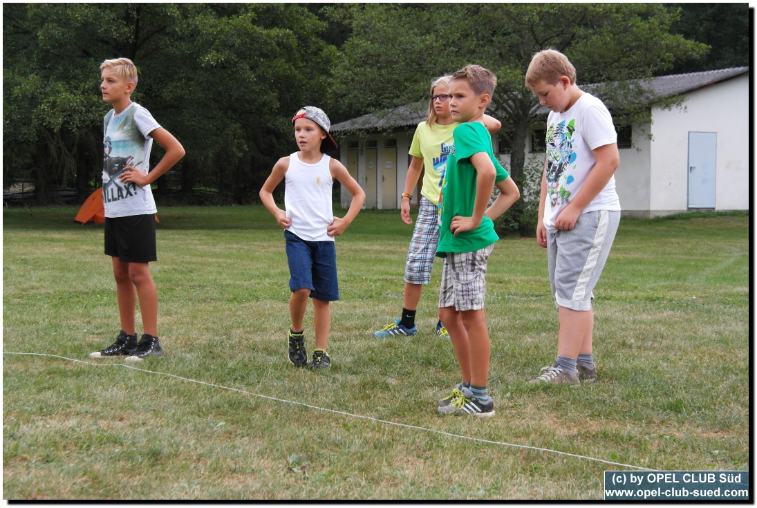
[{"label": "grey roof of the white building, partly hidden by tree", "polygon": [[[694,90],[706,88],[707,86],[720,83],[726,79],[731,79],[749,73],[749,67],[734,67],[731,69],[705,70],[698,73],[672,74],[671,76],[659,76],[649,79],[640,80],[640,84],[649,92],[650,103],[662,98],[681,95]],[[596,88],[597,85],[582,86],[584,89]],[[336,123],[331,126],[331,132],[340,132],[342,135],[347,132],[364,131],[364,130],[396,130],[413,128],[426,119],[425,101],[419,101],[414,104],[406,104],[391,108],[384,111],[378,111],[372,114],[366,114],[362,117],[353,118],[344,122]],[[548,113],[547,108],[537,108],[536,113]]]}]

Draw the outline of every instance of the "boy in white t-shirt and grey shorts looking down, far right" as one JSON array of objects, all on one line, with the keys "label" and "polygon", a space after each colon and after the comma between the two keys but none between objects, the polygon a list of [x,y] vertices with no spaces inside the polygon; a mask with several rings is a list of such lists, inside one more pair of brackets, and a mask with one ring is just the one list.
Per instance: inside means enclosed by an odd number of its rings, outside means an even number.
[{"label": "boy in white t-shirt and grey shorts looking down, far right", "polygon": [[559,51],[534,55],[525,83],[550,109],[536,235],[547,248],[559,320],[556,361],[531,383],[578,385],[597,379],[591,301],[620,223],[617,133],[605,105],[578,88],[575,67]]}]

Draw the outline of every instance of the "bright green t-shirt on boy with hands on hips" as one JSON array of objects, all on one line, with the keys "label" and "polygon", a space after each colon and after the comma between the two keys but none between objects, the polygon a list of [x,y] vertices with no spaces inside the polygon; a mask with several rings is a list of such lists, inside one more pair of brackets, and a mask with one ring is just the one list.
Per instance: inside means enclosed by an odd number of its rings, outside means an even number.
[{"label": "bright green t-shirt on boy with hands on hips", "polygon": [[456,215],[472,217],[475,205],[476,177],[478,173],[471,164],[470,157],[480,151],[486,152],[494,169],[497,170],[495,182],[506,179],[508,174],[491,149],[491,136],[481,122],[461,123],[456,127],[454,143],[447,157],[447,172],[441,185],[439,202],[439,245],[438,257],[445,257],[447,252],[473,252],[497,242],[500,238],[494,232],[494,223],[484,216],[481,225],[473,231],[463,231],[453,235],[450,223]]}]

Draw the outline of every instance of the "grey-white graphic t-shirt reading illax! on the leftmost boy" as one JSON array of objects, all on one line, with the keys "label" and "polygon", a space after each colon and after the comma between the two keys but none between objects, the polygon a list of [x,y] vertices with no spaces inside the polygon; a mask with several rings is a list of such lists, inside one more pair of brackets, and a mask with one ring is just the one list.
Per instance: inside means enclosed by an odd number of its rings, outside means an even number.
[{"label": "grey-white graphic t-shirt reading illax! on the leftmost boy", "polygon": [[127,166],[148,173],[152,148],[149,134],[159,127],[150,112],[136,102],[129,104],[119,114],[114,114],[114,110],[111,110],[105,115],[102,165],[105,217],[129,217],[157,212],[150,185],[140,187],[133,182],[122,183],[118,177]]}]

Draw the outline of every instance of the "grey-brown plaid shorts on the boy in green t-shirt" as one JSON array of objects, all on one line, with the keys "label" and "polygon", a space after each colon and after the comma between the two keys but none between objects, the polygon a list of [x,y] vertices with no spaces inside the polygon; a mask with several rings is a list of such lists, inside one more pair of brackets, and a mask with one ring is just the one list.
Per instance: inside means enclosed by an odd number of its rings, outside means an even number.
[{"label": "grey-brown plaid shorts on the boy in green t-shirt", "polygon": [[447,252],[441,268],[439,308],[479,310],[486,300],[486,265],[494,244],[473,252]]}]

